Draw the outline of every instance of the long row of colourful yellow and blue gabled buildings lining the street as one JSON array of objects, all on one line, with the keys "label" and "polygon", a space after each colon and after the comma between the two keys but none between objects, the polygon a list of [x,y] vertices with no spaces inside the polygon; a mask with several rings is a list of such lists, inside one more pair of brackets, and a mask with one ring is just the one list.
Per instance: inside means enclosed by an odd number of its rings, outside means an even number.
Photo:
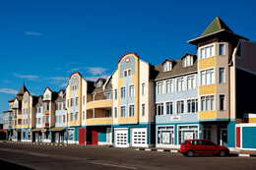
[{"label": "long row of colourful yellow and blue gabled buildings lining the street", "polygon": [[255,149],[256,43],[219,17],[188,43],[197,54],[156,66],[125,54],[96,82],[73,73],[65,89],[40,96],[23,85],[4,112],[8,140],[178,147],[208,139]]}]

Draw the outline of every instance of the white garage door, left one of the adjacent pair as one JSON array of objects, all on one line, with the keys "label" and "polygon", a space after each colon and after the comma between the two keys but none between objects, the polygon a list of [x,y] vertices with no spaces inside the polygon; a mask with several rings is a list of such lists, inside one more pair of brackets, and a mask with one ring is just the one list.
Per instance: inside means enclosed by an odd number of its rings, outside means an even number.
[{"label": "white garage door, left one of the adjacent pair", "polygon": [[115,129],[114,130],[114,143],[116,147],[128,147],[128,130]]}]

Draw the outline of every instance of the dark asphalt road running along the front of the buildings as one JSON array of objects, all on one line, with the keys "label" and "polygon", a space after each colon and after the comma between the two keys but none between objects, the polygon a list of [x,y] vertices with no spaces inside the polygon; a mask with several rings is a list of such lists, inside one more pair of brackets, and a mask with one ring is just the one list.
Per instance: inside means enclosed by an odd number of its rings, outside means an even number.
[{"label": "dark asphalt road running along the front of the buildings", "polygon": [[256,169],[256,157],[185,157],[99,145],[0,143],[0,165],[11,169]]}]

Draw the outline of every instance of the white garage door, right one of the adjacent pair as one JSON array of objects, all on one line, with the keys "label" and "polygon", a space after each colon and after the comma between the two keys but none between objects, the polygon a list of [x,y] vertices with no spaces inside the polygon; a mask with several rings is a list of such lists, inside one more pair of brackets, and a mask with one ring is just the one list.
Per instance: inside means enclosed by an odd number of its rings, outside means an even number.
[{"label": "white garage door, right one of the adjacent pair", "polygon": [[132,129],[132,146],[147,147],[147,128]]}]

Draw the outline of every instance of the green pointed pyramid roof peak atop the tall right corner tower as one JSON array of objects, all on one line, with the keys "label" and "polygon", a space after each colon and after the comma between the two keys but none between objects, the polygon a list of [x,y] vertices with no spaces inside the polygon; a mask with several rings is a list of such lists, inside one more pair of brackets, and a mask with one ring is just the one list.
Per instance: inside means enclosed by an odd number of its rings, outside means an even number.
[{"label": "green pointed pyramid roof peak atop the tall right corner tower", "polygon": [[205,31],[201,34],[201,36],[213,33],[215,31],[219,31],[219,30],[228,30],[230,32],[232,32],[232,30],[230,28],[228,28],[225,24],[224,21],[222,21],[220,19],[220,17],[217,17],[212,23],[211,25],[205,29]]}]

